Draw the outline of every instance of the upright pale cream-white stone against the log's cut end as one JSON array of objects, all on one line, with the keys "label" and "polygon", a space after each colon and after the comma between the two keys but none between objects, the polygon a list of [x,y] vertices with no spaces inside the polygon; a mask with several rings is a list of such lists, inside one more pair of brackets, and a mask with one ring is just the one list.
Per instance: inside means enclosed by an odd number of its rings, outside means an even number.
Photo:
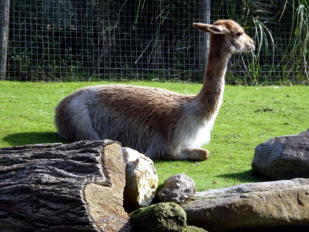
[{"label": "upright pale cream-white stone against the log's cut end", "polygon": [[131,148],[122,148],[125,161],[124,208],[131,212],[149,206],[158,187],[152,160]]}]

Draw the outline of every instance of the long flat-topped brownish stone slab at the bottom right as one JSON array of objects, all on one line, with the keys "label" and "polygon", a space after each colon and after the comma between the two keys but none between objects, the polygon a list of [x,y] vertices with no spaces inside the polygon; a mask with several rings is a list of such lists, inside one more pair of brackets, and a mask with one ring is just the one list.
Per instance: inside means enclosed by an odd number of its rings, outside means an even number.
[{"label": "long flat-topped brownish stone slab at the bottom right", "polygon": [[188,225],[211,232],[309,226],[309,179],[245,183],[197,192],[184,204]]}]

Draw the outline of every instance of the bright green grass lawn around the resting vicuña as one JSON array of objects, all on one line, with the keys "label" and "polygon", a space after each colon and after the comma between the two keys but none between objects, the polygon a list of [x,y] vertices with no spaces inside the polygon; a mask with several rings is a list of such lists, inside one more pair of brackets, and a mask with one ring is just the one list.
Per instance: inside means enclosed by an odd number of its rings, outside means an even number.
[{"label": "bright green grass lawn around the resting vicu\u00f1a", "polygon": [[[0,81],[0,147],[37,143],[67,143],[57,136],[54,108],[66,95],[88,83],[42,83]],[[196,94],[200,84],[178,82],[132,82],[124,84],[166,88]],[[252,175],[256,145],[275,136],[298,134],[309,127],[309,87],[226,86],[215,120],[206,161],[154,160],[159,183],[185,173],[197,191],[259,182]]]}]

